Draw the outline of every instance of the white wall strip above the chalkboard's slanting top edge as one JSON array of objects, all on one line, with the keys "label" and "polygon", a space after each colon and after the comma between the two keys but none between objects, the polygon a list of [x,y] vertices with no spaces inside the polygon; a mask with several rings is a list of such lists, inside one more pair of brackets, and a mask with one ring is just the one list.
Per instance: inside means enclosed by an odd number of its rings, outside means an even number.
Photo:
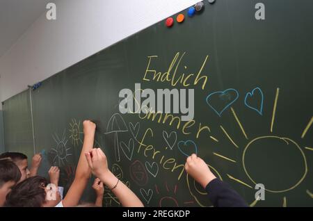
[{"label": "white wall strip above the chalkboard's slanting top edge", "polygon": [[56,21],[42,14],[1,56],[0,100],[198,1],[57,0]]}]

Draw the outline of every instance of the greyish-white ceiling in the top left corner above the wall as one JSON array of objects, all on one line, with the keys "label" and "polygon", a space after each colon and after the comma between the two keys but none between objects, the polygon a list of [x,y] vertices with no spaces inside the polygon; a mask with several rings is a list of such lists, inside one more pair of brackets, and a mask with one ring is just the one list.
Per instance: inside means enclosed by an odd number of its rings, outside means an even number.
[{"label": "greyish-white ceiling in the top left corner above the wall", "polygon": [[0,0],[0,57],[17,42],[51,0]]}]

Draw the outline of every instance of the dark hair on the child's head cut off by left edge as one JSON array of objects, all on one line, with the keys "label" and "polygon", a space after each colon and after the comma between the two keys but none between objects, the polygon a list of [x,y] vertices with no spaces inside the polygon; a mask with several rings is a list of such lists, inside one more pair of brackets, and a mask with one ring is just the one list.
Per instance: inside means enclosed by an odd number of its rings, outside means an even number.
[{"label": "dark hair on the child's head cut off by left edge", "polygon": [[22,174],[19,167],[10,159],[0,160],[0,188],[8,181],[15,181],[17,183],[21,179]]}]

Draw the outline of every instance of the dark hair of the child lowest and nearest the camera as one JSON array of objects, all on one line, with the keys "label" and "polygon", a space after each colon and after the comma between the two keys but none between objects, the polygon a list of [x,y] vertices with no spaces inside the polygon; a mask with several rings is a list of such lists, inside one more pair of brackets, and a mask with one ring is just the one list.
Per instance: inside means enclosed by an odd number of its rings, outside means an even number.
[{"label": "dark hair of the child lowest and nearest the camera", "polygon": [[47,179],[30,177],[17,184],[6,196],[8,207],[41,207],[46,201]]}]

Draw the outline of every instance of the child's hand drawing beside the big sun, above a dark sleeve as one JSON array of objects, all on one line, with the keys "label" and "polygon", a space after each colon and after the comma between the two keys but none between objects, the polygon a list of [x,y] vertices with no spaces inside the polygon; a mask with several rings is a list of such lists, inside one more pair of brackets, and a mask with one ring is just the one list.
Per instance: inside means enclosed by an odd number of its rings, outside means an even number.
[{"label": "child's hand drawing beside the big sun, above a dark sleeve", "polygon": [[189,156],[185,163],[186,172],[195,179],[203,188],[206,188],[207,184],[213,179],[216,179],[214,174],[207,166],[202,158],[198,157],[195,154]]}]

